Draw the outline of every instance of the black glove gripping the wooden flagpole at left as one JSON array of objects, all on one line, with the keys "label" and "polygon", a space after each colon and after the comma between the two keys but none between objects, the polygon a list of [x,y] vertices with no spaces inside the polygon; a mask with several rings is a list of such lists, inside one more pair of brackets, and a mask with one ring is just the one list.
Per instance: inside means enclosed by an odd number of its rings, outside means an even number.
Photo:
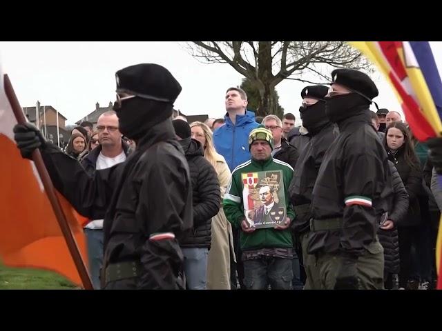
[{"label": "black glove gripping the wooden flagpole at left", "polygon": [[32,152],[36,148],[46,146],[46,140],[40,130],[31,123],[14,126],[14,139],[17,141],[17,148],[19,148],[23,159],[32,159]]}]

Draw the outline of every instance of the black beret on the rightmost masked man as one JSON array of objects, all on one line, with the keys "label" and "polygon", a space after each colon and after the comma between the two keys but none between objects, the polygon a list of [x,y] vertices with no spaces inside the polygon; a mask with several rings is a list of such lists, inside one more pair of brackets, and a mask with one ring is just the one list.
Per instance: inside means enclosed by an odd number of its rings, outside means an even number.
[{"label": "black beret on the rightmost masked man", "polygon": [[332,84],[339,84],[362,94],[372,101],[379,92],[374,81],[367,74],[354,69],[335,69],[332,71]]}]

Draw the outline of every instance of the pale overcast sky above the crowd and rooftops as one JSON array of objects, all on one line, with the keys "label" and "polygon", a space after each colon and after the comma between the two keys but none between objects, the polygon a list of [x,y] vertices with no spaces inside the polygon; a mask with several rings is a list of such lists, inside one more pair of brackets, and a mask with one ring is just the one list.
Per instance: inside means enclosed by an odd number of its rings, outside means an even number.
[{"label": "pale overcast sky above the crowd and rooftops", "polygon": [[[22,107],[53,106],[68,123],[115,101],[115,72],[136,63],[158,63],[168,68],[182,86],[175,108],[184,114],[223,117],[224,94],[238,86],[242,75],[228,64],[204,64],[184,49],[183,43],[140,42],[0,42],[0,65],[12,81]],[[442,43],[430,43],[436,63],[442,67]],[[439,64],[440,63],[440,64]],[[439,69],[440,71],[441,69]],[[332,68],[330,68],[330,72]],[[374,74],[380,108],[399,110],[390,85]],[[285,80],[276,86],[280,105],[299,121],[300,90],[306,83]],[[371,106],[375,109],[374,106]]]}]

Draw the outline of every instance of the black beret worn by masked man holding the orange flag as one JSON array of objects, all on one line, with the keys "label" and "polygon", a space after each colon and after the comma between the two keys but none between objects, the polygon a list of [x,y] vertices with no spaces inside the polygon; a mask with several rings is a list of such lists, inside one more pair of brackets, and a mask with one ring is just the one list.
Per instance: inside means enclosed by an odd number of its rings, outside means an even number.
[{"label": "black beret worn by masked man holding the orange flag", "polygon": [[166,68],[155,63],[141,63],[118,70],[117,93],[124,92],[144,99],[175,102],[182,88]]}]

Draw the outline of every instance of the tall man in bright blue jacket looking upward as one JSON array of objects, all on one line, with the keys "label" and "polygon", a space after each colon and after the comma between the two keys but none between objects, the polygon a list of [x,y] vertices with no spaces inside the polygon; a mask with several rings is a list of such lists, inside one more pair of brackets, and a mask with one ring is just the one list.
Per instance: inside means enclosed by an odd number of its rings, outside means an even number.
[{"label": "tall man in bright blue jacket looking upward", "polygon": [[[238,165],[251,159],[249,151],[249,133],[259,126],[255,121],[255,114],[247,111],[247,94],[240,88],[229,88],[226,92],[226,110],[224,116],[225,125],[213,132],[213,143],[215,149],[226,159],[229,169],[233,172]],[[237,257],[240,257],[239,232],[233,230],[233,247]],[[231,259],[233,261],[233,259]],[[236,285],[236,270],[241,288],[244,287],[242,278],[244,269],[242,262],[238,259],[238,265],[231,264],[231,286]]]}]

